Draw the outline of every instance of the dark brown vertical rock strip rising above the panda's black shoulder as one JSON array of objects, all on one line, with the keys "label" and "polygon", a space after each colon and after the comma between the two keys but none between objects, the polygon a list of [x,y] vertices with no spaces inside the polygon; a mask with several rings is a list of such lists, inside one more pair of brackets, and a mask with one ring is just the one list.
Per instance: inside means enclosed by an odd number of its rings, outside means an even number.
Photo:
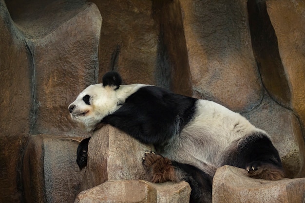
[{"label": "dark brown vertical rock strip rising above the panda's black shoulder", "polygon": [[[159,26],[156,78],[161,82],[157,85],[169,87],[168,89],[175,93],[191,96],[191,71],[180,1],[154,0],[152,12]],[[164,83],[169,83],[169,86]]]}]

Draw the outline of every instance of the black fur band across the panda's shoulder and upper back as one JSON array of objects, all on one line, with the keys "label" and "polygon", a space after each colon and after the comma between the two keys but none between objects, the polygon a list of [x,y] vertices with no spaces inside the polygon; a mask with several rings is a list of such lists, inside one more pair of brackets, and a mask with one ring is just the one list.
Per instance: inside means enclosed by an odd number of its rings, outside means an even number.
[{"label": "black fur band across the panda's shoulder and upper back", "polygon": [[145,144],[164,145],[190,122],[196,101],[156,86],[146,86],[126,98],[120,109],[101,122]]}]

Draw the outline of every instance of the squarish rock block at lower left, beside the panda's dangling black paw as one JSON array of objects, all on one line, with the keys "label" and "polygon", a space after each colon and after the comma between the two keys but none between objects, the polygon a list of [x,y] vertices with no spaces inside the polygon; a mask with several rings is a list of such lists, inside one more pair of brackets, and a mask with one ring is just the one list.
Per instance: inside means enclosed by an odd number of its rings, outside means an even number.
[{"label": "squarish rock block at lower left, beside the panda's dangling black paw", "polygon": [[71,203],[84,171],[76,164],[78,141],[37,135],[29,139],[23,157],[22,182],[27,203]]}]

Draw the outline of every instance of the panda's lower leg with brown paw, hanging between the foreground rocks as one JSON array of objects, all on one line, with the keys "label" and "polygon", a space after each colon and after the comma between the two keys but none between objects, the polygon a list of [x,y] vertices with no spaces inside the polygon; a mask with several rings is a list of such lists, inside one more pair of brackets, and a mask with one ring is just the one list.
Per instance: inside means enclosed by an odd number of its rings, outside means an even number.
[{"label": "panda's lower leg with brown paw, hanging between the foreground rocks", "polygon": [[191,186],[190,203],[212,203],[212,177],[197,167],[149,151],[145,152],[143,166],[150,182],[186,181]]}]

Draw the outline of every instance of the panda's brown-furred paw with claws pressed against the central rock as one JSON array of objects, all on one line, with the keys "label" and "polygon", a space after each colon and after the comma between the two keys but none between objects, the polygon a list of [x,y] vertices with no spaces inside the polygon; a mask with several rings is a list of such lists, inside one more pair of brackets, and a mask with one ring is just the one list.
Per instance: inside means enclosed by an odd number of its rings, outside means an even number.
[{"label": "panda's brown-furred paw with claws pressed against the central rock", "polygon": [[171,160],[168,158],[152,151],[146,151],[142,159],[148,181],[152,183],[177,181],[174,167],[172,166]]}]

